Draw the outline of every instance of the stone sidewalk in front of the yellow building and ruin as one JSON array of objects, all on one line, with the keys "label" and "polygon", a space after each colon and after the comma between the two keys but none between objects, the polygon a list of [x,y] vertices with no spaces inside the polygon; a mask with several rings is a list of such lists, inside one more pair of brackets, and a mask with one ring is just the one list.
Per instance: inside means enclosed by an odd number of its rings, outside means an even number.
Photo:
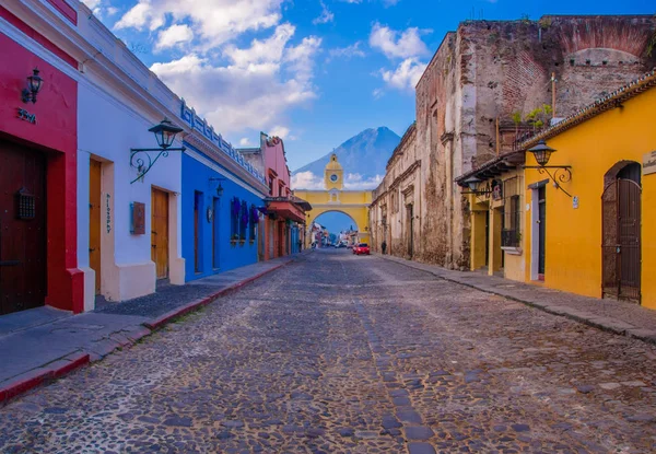
[{"label": "stone sidewalk in front of the yellow building and ruin", "polygon": [[455,271],[389,255],[376,255],[410,268],[430,272],[450,282],[505,296],[607,331],[656,344],[656,311],[654,310],[623,301],[581,296],[496,276]]}]

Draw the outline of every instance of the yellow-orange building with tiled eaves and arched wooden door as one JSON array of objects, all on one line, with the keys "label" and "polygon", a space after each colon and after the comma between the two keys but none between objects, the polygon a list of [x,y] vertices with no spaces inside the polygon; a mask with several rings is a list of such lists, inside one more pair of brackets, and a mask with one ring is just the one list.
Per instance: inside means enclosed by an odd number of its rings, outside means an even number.
[{"label": "yellow-orange building with tiled eaves and arched wooden door", "polygon": [[475,189],[472,269],[487,248],[490,273],[656,309],[654,125],[656,71],[458,177]]}]

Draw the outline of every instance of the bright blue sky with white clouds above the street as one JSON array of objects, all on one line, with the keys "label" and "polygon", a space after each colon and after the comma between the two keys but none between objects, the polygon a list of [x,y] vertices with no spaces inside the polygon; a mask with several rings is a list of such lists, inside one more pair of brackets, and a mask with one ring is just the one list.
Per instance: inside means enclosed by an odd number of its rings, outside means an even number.
[{"label": "bright blue sky with white clouds above the street", "polygon": [[370,127],[401,136],[414,82],[464,20],[656,12],[653,0],[83,1],[234,145],[282,137],[291,170]]}]

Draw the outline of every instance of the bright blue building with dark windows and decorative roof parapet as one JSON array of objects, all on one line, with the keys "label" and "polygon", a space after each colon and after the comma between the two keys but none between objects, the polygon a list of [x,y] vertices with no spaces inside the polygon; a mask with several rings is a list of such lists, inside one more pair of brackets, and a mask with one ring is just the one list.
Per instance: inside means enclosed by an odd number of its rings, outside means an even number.
[{"label": "bright blue building with dark windows and decorative roof parapet", "polygon": [[184,140],[181,232],[185,280],[258,261],[260,213],[269,187],[230,143],[183,102],[194,129]]}]

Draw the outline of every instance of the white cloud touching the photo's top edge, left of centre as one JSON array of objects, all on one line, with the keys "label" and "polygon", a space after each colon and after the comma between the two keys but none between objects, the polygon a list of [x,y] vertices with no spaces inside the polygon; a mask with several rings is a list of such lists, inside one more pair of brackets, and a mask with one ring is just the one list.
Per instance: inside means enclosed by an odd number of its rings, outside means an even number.
[{"label": "white cloud touching the photo's top edge, left of centre", "polygon": [[116,23],[115,28],[156,31],[168,19],[188,21],[204,49],[236,35],[266,30],[280,22],[283,0],[139,0]]}]

